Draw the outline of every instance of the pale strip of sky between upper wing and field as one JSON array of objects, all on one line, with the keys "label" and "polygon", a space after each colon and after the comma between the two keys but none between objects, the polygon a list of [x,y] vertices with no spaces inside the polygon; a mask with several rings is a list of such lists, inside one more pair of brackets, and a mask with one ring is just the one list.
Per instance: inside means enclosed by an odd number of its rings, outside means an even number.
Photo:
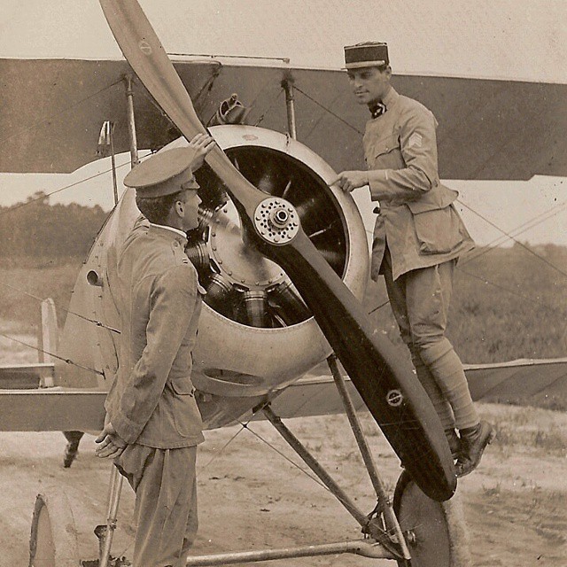
[{"label": "pale strip of sky between upper wing and field", "polygon": [[[140,157],[147,153],[140,151]],[[119,196],[124,191],[122,181],[129,171],[129,162],[129,153],[116,156]],[[43,191],[51,205],[101,206],[110,213],[113,208],[110,169],[111,159],[104,158],[71,174],[0,174],[0,206],[24,203],[36,192]],[[535,175],[526,182],[443,180],[443,183],[459,191],[457,210],[477,245],[488,245],[495,240],[500,245],[513,245],[515,240],[521,240],[530,245],[567,246],[565,178]],[[370,238],[375,205],[369,199],[368,190],[354,191],[353,198]],[[521,232],[517,233],[518,229]],[[506,237],[504,233],[515,238]]]}]

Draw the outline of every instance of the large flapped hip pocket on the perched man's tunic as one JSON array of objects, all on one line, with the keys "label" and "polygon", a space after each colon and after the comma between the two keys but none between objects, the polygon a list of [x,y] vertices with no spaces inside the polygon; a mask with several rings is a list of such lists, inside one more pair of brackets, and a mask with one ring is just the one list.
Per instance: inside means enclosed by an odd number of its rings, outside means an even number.
[{"label": "large flapped hip pocket on the perched man's tunic", "polygon": [[461,219],[453,206],[414,214],[420,254],[445,254],[462,244]]}]

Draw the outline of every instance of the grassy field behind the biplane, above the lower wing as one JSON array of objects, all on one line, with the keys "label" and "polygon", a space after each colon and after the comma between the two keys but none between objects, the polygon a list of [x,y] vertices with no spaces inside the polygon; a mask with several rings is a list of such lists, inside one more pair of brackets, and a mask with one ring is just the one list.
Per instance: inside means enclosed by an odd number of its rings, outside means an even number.
[{"label": "grassy field behind the biplane, above the lower wing", "polygon": [[[537,254],[537,255],[536,255]],[[567,248],[522,245],[473,252],[456,271],[448,337],[467,363],[518,358],[567,356]],[[0,319],[12,330],[35,334],[38,298],[50,297],[65,321],[74,280],[82,260],[40,265],[22,260],[18,267],[0,264]],[[386,300],[383,283],[371,283],[368,310]],[[386,304],[371,317],[394,343],[397,325]]]}]

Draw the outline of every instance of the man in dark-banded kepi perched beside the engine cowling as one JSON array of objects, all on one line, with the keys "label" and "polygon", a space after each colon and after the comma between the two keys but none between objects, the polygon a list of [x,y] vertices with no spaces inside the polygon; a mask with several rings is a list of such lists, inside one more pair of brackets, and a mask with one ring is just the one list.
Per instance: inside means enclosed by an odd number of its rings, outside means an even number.
[{"label": "man in dark-banded kepi perched beside the engine cowling", "polygon": [[347,46],[345,60],[354,96],[371,114],[363,139],[368,171],[343,171],[337,183],[346,191],[368,185],[379,201],[371,276],[385,278],[401,338],[464,476],[494,435],[479,421],[462,362],[445,337],[454,266],[474,243],[454,208],[457,192],[439,183],[437,120],[392,88],[387,45]]}]

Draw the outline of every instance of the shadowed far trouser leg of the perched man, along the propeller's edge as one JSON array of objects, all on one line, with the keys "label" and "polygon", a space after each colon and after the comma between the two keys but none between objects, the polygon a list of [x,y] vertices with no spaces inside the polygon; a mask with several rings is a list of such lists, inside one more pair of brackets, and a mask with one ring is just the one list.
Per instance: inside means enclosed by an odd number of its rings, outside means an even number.
[{"label": "shadowed far trouser leg of the perched man, along the propeller's edge", "polygon": [[433,408],[437,411],[439,420],[446,431],[454,430],[454,415],[450,404],[445,398],[443,392],[439,388],[435,377],[431,374],[427,365],[423,362],[418,349],[414,346],[408,318],[408,309],[406,302],[406,276],[400,276],[395,282],[392,278],[392,263],[390,252],[386,248],[383,260],[383,272],[388,291],[388,299],[392,307],[393,315],[400,328],[400,335],[404,343],[408,346],[411,353],[411,359],[416,369],[416,376],[423,389],[427,392]]}]

